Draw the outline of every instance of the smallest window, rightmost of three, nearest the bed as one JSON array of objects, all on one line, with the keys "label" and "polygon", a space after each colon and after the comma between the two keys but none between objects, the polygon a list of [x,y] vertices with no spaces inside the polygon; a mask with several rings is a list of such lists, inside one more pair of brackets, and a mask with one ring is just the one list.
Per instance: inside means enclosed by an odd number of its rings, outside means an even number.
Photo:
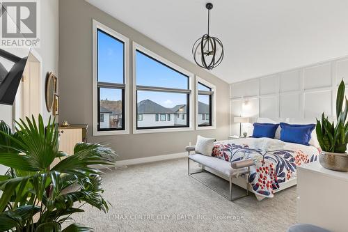
[{"label": "smallest window, rightmost of three, nearest the bed", "polygon": [[196,129],[212,129],[216,127],[214,123],[215,106],[213,103],[215,86],[200,77],[196,77],[196,86]]}]

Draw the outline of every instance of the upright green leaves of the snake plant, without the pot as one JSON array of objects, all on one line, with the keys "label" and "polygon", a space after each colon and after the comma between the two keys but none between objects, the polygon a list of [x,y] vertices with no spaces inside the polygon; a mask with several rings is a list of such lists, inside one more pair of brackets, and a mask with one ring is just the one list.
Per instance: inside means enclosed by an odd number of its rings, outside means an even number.
[{"label": "upright green leaves of the snake plant, without the pot", "polygon": [[[345,100],[345,109],[343,101]],[[322,122],[317,119],[317,138],[323,151],[330,153],[346,153],[348,142],[348,100],[345,98],[345,82],[338,87],[336,98],[337,123],[330,123],[329,118],[322,114]]]}]

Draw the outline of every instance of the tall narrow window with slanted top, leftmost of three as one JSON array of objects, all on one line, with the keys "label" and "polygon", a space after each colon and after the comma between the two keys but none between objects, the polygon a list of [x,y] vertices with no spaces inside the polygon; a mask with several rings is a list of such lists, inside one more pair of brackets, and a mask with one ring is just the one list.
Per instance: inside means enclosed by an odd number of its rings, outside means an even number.
[{"label": "tall narrow window with slanted top, leftmost of three", "polygon": [[128,133],[127,47],[127,38],[93,20],[93,135]]}]

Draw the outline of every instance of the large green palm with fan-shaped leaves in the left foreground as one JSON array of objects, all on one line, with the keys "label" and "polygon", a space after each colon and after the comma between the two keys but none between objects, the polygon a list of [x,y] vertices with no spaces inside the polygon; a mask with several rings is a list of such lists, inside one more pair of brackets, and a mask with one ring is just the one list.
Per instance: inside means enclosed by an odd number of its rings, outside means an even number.
[{"label": "large green palm with fan-shaped leaves in the left foreground", "polygon": [[[58,127],[26,118],[15,132],[0,122],[0,231],[93,231],[71,222],[83,204],[109,210],[95,164],[113,164],[116,154],[99,144],[77,144],[74,154],[58,151]],[[52,162],[58,158],[58,164]],[[63,226],[62,226],[63,224]],[[65,227],[63,229],[63,227]]]}]

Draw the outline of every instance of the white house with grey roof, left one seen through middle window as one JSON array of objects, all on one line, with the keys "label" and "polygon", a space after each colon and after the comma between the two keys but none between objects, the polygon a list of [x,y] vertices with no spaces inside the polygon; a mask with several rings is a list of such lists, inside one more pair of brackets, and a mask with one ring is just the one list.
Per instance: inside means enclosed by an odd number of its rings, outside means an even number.
[{"label": "white house with grey roof, left one seen through middle window", "polygon": [[138,103],[138,127],[160,127],[174,125],[174,112],[152,100]]}]

